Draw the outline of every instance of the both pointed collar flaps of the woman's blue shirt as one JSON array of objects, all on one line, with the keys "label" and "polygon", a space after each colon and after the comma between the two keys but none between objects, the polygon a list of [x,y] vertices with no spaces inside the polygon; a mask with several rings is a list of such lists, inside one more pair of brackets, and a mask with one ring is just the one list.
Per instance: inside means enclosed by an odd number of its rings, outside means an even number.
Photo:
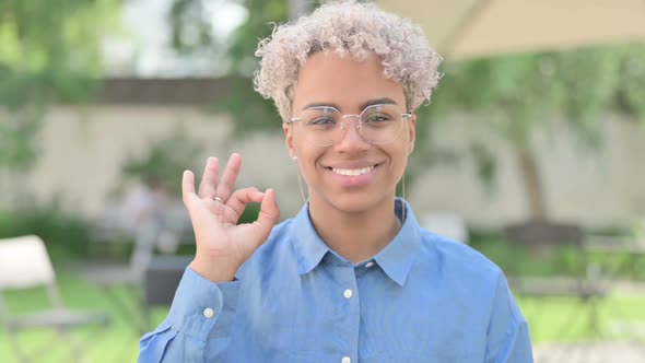
[{"label": "both pointed collar flaps of the woman's blue shirt", "polygon": [[[400,218],[406,210],[406,221],[395,238],[375,257],[383,271],[399,285],[403,285],[421,245],[419,223],[412,209],[403,199],[397,198],[395,212]],[[331,250],[320,239],[312,220],[308,203],[303,206],[292,224],[292,244],[295,253],[297,272],[305,274],[320,264]]]}]

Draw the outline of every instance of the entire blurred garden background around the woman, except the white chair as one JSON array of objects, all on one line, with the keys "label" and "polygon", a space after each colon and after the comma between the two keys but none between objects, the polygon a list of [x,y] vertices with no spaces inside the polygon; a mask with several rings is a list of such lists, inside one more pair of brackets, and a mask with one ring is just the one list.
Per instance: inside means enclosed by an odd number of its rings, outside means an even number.
[{"label": "entire blurred garden background around the woman, except the white chair", "polygon": [[[504,269],[537,361],[645,362],[645,3],[375,2],[445,58],[400,188],[422,224]],[[107,321],[50,344],[44,320],[8,324],[47,295],[0,278],[0,362],[133,361],[194,253],[181,172],[209,155],[242,153],[238,186],[300,209],[251,77],[271,23],[317,5],[0,0],[0,244],[38,236],[60,304]]]}]

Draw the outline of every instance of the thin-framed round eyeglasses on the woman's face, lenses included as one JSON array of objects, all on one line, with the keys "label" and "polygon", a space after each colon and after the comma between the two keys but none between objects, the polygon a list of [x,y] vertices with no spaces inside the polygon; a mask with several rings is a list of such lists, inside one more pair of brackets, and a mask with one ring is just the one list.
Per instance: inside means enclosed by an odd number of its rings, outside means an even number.
[{"label": "thin-framed round eyeglasses on the woman's face, lenses included", "polygon": [[367,106],[360,115],[342,115],[331,106],[315,106],[289,122],[298,124],[298,132],[306,142],[329,147],[342,140],[348,124],[343,119],[350,117],[359,119],[355,125],[363,139],[373,144],[384,144],[396,140],[403,129],[403,120],[409,120],[412,114],[401,113],[398,106],[390,104]]}]

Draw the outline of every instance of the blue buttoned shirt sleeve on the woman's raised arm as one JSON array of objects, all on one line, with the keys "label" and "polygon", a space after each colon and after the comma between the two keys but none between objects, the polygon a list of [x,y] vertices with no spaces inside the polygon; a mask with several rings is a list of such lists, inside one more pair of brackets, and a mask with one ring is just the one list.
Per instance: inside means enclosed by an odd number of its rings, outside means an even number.
[{"label": "blue buttoned shirt sleeve on the woman's raised arm", "polygon": [[141,338],[138,362],[204,362],[207,350],[223,361],[239,283],[213,283],[186,268],[168,316]]}]

